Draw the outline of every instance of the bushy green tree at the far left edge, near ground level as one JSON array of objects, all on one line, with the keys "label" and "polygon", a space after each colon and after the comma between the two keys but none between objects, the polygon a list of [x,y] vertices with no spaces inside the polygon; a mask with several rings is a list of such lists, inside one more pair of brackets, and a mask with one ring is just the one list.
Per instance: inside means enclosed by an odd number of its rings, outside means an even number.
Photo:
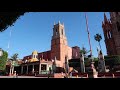
[{"label": "bushy green tree at the far left edge, near ground level", "polygon": [[0,57],[0,71],[5,71],[6,70],[6,62],[8,59],[8,53],[4,50],[3,55]]}]

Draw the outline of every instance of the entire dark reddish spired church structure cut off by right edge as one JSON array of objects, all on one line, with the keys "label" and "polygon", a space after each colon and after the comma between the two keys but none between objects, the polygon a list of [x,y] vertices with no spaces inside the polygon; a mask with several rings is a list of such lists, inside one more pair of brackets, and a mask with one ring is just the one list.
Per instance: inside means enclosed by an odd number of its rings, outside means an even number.
[{"label": "entire dark reddish spired church structure cut off by right edge", "polygon": [[120,13],[110,12],[110,20],[104,13],[102,28],[108,55],[120,55]]}]

